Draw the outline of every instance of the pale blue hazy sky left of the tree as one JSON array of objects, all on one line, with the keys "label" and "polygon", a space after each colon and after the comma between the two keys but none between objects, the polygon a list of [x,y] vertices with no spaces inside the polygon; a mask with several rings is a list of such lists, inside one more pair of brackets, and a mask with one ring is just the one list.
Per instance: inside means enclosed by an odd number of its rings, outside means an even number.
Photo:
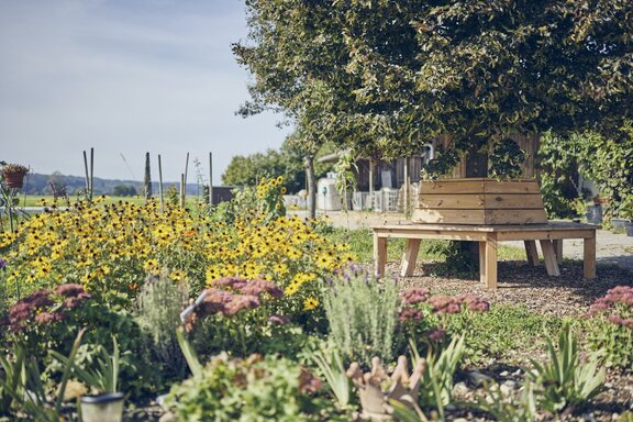
[{"label": "pale blue hazy sky left of the tree", "polygon": [[[231,157],[278,148],[281,119],[234,115],[248,74],[230,44],[243,0],[0,0],[0,159],[34,171],[178,180],[190,153],[213,184]],[[125,162],[122,158],[125,158]],[[132,177],[134,176],[134,177]],[[193,177],[189,177],[192,181]]]}]

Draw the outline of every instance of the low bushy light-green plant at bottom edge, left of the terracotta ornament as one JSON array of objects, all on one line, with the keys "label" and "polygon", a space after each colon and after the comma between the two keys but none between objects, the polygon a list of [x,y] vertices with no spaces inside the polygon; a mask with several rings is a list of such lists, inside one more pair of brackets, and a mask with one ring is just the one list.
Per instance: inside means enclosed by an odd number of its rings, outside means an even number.
[{"label": "low bushy light-green plant at bottom edge, left of the terracotta ornament", "polygon": [[314,378],[275,356],[214,357],[198,377],[171,388],[168,406],[182,421],[344,420],[314,393]]}]

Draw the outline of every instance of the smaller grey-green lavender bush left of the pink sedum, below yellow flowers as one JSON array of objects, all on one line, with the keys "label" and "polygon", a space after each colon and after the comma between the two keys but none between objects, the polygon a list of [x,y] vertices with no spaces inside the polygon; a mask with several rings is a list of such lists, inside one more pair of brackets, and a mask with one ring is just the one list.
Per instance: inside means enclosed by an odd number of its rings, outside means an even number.
[{"label": "smaller grey-green lavender bush left of the pink sedum, below yellow flowers", "polygon": [[147,358],[157,365],[164,379],[184,374],[185,359],[178,347],[176,329],[188,299],[188,284],[173,280],[167,271],[151,276],[138,292],[136,321],[147,338]]}]

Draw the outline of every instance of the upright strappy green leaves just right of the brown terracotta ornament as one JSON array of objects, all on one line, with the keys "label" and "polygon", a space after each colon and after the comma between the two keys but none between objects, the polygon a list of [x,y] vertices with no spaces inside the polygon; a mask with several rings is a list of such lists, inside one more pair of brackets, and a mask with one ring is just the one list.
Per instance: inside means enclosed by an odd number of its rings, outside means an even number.
[{"label": "upright strappy green leaves just right of the brown terracotta ornament", "polygon": [[[412,353],[412,365],[421,359],[415,343],[409,342]],[[464,336],[454,337],[451,344],[442,352],[429,352],[425,359],[425,370],[421,378],[419,401],[422,408],[437,409],[440,418],[444,420],[444,409],[453,401],[453,378],[457,365],[464,355]]]}]

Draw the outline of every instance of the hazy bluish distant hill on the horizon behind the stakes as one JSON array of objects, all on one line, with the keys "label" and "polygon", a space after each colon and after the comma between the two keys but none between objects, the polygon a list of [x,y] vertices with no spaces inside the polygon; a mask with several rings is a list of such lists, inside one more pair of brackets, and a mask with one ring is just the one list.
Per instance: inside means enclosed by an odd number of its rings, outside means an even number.
[{"label": "hazy bluish distant hill on the horizon behind the stakes", "polygon": [[[79,176],[64,176],[59,173],[53,175],[40,175],[31,173],[24,179],[24,187],[22,191],[26,195],[53,195],[51,184],[56,187],[65,187],[68,196],[75,196],[86,188],[86,179]],[[170,186],[177,189],[180,184],[170,181],[163,182],[163,189],[166,191]],[[95,195],[113,195],[116,187],[134,188],[138,195],[143,195],[144,188],[142,181],[135,180],[119,180],[119,179],[101,179],[96,177],[92,181],[92,189]],[[119,188],[121,190],[121,188]],[[158,193],[158,182],[152,184],[152,191],[156,196]],[[187,184],[187,195],[198,196],[202,195],[202,186],[197,184]]]}]

